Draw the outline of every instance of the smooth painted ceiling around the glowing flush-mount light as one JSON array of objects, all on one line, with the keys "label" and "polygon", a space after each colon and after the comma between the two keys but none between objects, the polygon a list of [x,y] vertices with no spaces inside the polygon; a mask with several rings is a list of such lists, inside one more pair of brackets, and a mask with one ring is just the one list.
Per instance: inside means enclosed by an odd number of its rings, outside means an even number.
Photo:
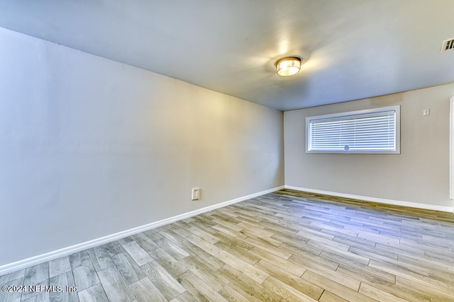
[{"label": "smooth painted ceiling around the glowing flush-mount light", "polygon": [[[453,0],[0,0],[0,26],[294,110],[454,82]],[[276,74],[277,59],[304,62]]]}]

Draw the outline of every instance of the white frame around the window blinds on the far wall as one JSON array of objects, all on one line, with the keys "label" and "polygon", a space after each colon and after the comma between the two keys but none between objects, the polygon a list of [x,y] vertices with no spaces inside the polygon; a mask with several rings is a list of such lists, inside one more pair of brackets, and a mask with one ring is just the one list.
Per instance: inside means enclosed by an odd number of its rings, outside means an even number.
[{"label": "white frame around the window blinds on the far wall", "polygon": [[[380,114],[381,112],[387,111],[394,111],[395,112],[395,120],[394,120],[394,142],[395,142],[395,149],[393,151],[390,150],[377,150],[377,149],[370,149],[368,151],[350,151],[350,150],[309,150],[310,139],[311,139],[311,122],[314,120],[325,120],[325,119],[333,119],[338,117],[340,120],[345,120],[345,117],[354,116],[354,115],[370,115],[370,114]],[[370,153],[370,154],[400,154],[400,105],[394,106],[387,106],[382,108],[370,108],[365,110],[355,110],[355,111],[348,111],[348,112],[339,112],[333,113],[329,115],[316,115],[311,117],[306,117],[306,153],[331,153],[331,154],[363,154],[363,153]]]}]

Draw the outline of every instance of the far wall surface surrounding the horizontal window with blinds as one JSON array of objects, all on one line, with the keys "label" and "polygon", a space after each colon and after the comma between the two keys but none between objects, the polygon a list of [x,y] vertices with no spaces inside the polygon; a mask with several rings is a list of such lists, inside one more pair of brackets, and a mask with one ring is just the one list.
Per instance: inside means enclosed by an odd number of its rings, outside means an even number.
[{"label": "far wall surface surrounding the horizontal window with blinds", "polygon": [[[449,115],[454,84],[284,112],[285,184],[452,207],[449,199]],[[401,105],[401,154],[305,153],[305,118]],[[423,116],[423,109],[431,115]]]}]

